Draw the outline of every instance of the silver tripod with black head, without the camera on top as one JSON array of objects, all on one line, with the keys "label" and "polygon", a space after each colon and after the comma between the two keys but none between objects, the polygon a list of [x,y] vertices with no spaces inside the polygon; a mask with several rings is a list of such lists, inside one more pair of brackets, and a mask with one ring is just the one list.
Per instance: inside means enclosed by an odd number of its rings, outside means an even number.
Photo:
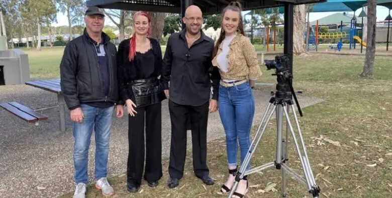
[{"label": "silver tripod with black head, without the camera on top", "polygon": [[[236,178],[235,178],[235,183],[230,191],[230,194],[228,197],[231,197],[233,193],[235,192],[238,182],[240,179],[244,178],[244,176],[248,174],[252,174],[254,172],[261,171],[263,169],[275,166],[276,169],[281,169],[282,168],[282,196],[286,196],[286,172],[291,174],[293,177],[295,177],[298,181],[303,182],[309,189],[309,192],[313,195],[313,197],[318,197],[319,192],[320,192],[320,187],[316,185],[315,178],[313,176],[313,171],[311,168],[311,165],[309,163],[308,159],[308,154],[306,152],[306,147],[304,143],[304,139],[302,137],[300,125],[298,122],[297,114],[296,114],[296,109],[292,103],[291,100],[291,94],[290,92],[287,92],[287,88],[291,90],[291,93],[293,94],[297,105],[297,97],[295,95],[295,92],[293,91],[293,88],[291,86],[291,75],[288,72],[277,72],[275,74],[277,76],[277,81],[278,84],[276,85],[277,92],[275,92],[275,97],[271,97],[268,103],[267,108],[264,111],[263,117],[261,119],[261,123],[257,129],[257,132],[255,134],[254,139],[252,140],[252,144],[248,150],[247,155],[245,156],[245,159],[241,165],[240,170],[238,171]],[[302,151],[300,150],[300,147],[298,145],[298,141],[296,138],[296,134],[293,130],[293,127],[291,125],[288,112],[290,107],[294,119],[297,125],[298,129],[298,134],[301,139],[301,144],[303,147],[303,152],[304,155],[302,155]],[[299,105],[298,105],[299,107]],[[300,114],[302,116],[301,108],[299,108]],[[246,167],[248,166],[250,159],[256,150],[256,147],[261,140],[261,137],[263,136],[265,129],[267,128],[268,122],[270,121],[272,115],[276,114],[276,129],[277,129],[277,138],[276,138],[276,158],[274,161],[265,163],[263,165],[260,165],[258,167],[252,168],[250,170],[246,170]],[[285,139],[282,138],[282,121],[283,121],[283,115],[286,119],[286,134],[285,134]],[[265,118],[267,117],[266,121],[264,122]],[[261,130],[262,129],[262,130]],[[260,131],[261,130],[261,131]],[[290,167],[286,165],[286,161],[288,160],[288,155],[287,155],[287,138],[288,138],[288,130],[291,133],[291,136],[293,138],[294,144],[296,146],[296,151],[297,154],[300,158],[302,169],[304,172],[304,177],[292,170]]]}]

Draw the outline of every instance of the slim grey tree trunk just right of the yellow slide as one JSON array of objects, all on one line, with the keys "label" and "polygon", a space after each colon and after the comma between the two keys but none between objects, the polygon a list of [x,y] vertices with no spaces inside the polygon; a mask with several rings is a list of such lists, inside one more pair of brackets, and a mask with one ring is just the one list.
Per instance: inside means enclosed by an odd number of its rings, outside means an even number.
[{"label": "slim grey tree trunk just right of the yellow slide", "polygon": [[362,77],[373,77],[375,58],[376,0],[367,0],[367,42]]}]

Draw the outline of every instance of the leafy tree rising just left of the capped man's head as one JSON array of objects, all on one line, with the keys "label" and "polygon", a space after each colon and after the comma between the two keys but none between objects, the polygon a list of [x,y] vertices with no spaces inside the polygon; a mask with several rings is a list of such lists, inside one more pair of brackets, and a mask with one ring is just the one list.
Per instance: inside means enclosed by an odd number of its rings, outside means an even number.
[{"label": "leafy tree rising just left of the capped man's head", "polygon": [[68,19],[69,40],[72,40],[72,25],[83,19],[84,3],[83,0],[56,0],[59,5],[60,12],[66,13]]}]

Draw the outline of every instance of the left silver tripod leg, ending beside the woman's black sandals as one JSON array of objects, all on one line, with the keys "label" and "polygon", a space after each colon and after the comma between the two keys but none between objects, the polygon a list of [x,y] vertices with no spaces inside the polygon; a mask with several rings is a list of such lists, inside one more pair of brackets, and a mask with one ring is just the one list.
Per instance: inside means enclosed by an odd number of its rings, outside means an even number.
[{"label": "left silver tripod leg, ending beside the woman's black sandals", "polygon": [[[233,195],[233,193],[234,193],[235,190],[237,189],[238,182],[240,181],[240,179],[244,178],[244,176],[248,174],[248,171],[249,171],[249,170],[246,171],[246,167],[248,166],[248,164],[249,164],[249,162],[250,162],[250,159],[251,159],[251,157],[252,157],[254,151],[256,150],[257,145],[259,144],[259,142],[260,142],[260,140],[261,140],[261,137],[263,136],[263,134],[264,134],[264,132],[265,132],[265,129],[266,129],[267,126],[268,126],[268,122],[269,122],[269,120],[271,119],[271,117],[272,117],[272,115],[273,115],[273,113],[274,113],[274,111],[275,111],[275,109],[276,109],[276,106],[273,106],[272,110],[270,111],[270,113],[269,113],[269,115],[268,115],[267,120],[263,123],[263,121],[264,121],[264,119],[265,119],[265,116],[268,114],[269,109],[271,108],[271,105],[272,105],[272,104],[269,103],[268,106],[267,106],[267,108],[265,109],[265,112],[264,112],[264,116],[263,116],[263,118],[262,118],[262,121],[261,121],[261,123],[260,123],[260,125],[259,125],[259,127],[258,127],[258,129],[257,129],[257,132],[256,132],[256,134],[255,134],[255,137],[254,137],[254,139],[253,139],[253,141],[252,141],[252,144],[251,144],[250,147],[249,147],[248,153],[246,154],[245,159],[244,159],[243,163],[241,164],[240,170],[239,170],[238,173],[237,173],[237,176],[236,176],[236,178],[235,178],[235,182],[234,182],[234,184],[233,184],[233,186],[232,186],[232,188],[231,188],[231,190],[230,190],[230,193],[229,193],[229,196],[228,196],[228,197],[231,197],[231,196]],[[262,126],[263,126],[263,127],[262,127]],[[262,130],[260,130],[261,128],[262,128]]]}]

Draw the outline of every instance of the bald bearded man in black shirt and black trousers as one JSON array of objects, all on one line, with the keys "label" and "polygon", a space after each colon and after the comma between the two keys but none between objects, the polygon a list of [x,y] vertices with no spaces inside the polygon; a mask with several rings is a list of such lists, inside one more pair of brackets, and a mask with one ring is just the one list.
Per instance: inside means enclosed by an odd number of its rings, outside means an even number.
[{"label": "bald bearded man in black shirt and black trousers", "polygon": [[182,21],[186,28],[168,39],[160,78],[169,99],[171,120],[170,179],[167,183],[170,188],[178,186],[183,176],[188,117],[194,174],[204,183],[214,184],[207,166],[208,114],[218,109],[221,79],[218,70],[210,70],[216,68],[211,62],[214,41],[202,31],[203,14],[199,7],[189,6]]}]

